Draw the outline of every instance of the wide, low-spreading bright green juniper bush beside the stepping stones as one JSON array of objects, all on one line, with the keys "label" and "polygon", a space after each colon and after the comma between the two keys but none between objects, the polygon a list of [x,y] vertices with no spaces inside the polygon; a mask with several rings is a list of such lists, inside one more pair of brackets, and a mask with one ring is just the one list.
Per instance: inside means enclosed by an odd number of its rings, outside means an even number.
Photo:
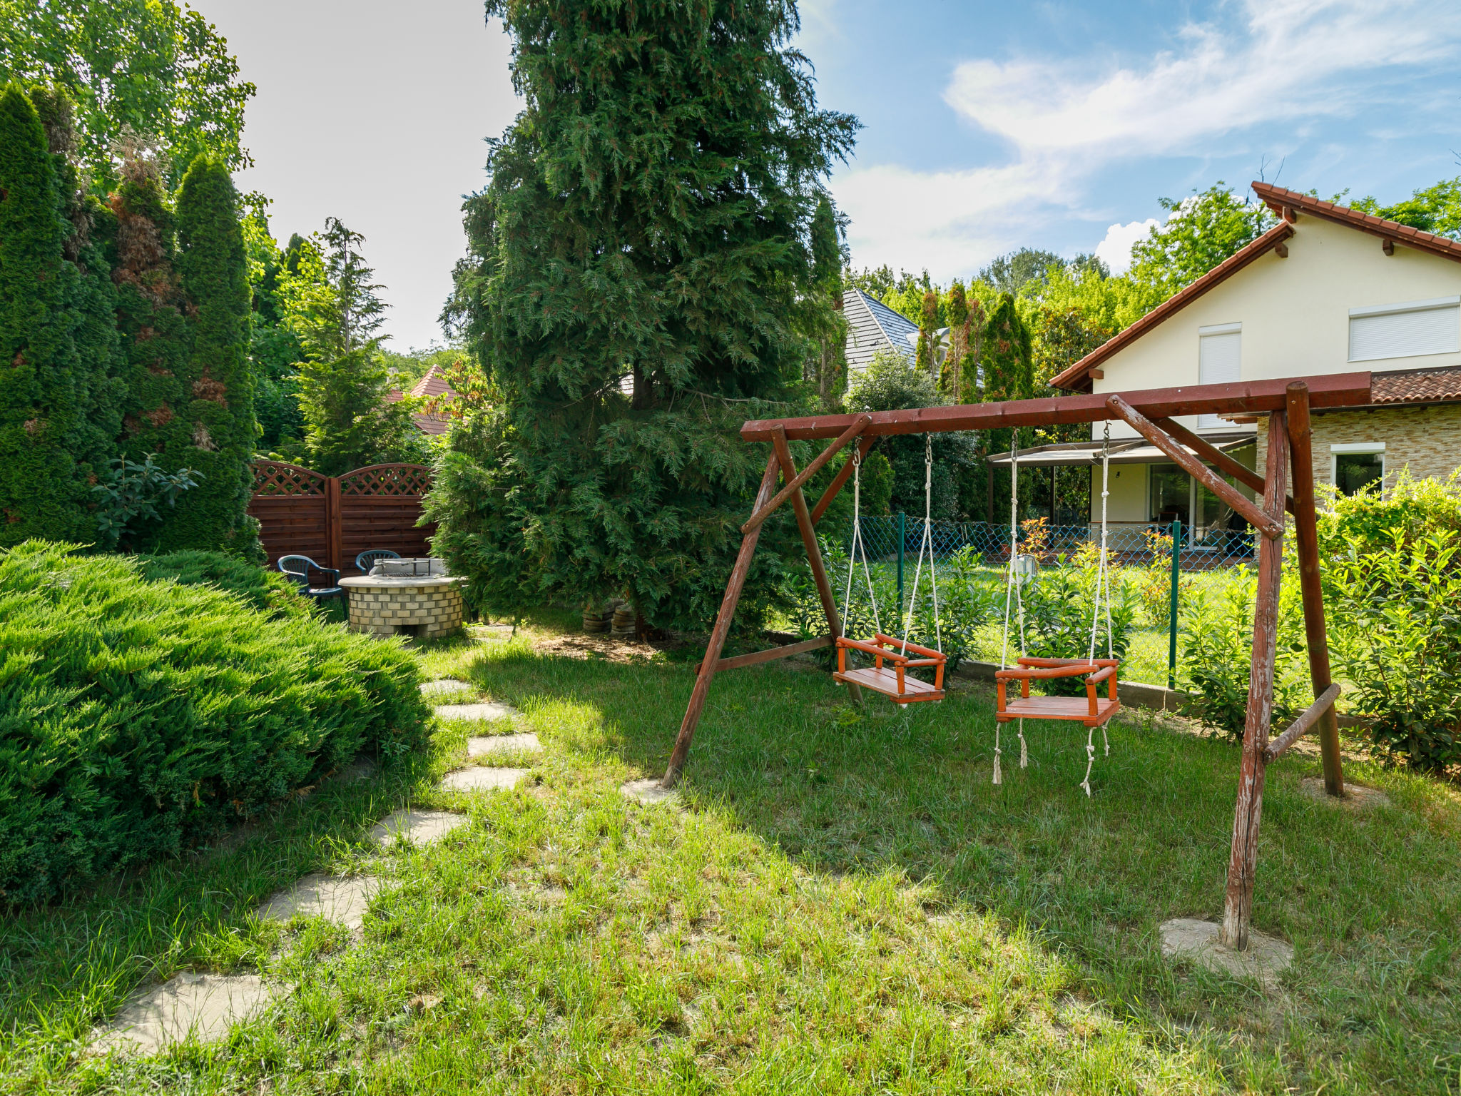
[{"label": "wide, low-spreading bright green juniper bush beside the stepping stones", "polygon": [[[415,661],[187,566],[29,541],[0,554],[0,899],[175,855],[362,750],[425,739]],[[202,564],[199,570],[206,570]]]}]

